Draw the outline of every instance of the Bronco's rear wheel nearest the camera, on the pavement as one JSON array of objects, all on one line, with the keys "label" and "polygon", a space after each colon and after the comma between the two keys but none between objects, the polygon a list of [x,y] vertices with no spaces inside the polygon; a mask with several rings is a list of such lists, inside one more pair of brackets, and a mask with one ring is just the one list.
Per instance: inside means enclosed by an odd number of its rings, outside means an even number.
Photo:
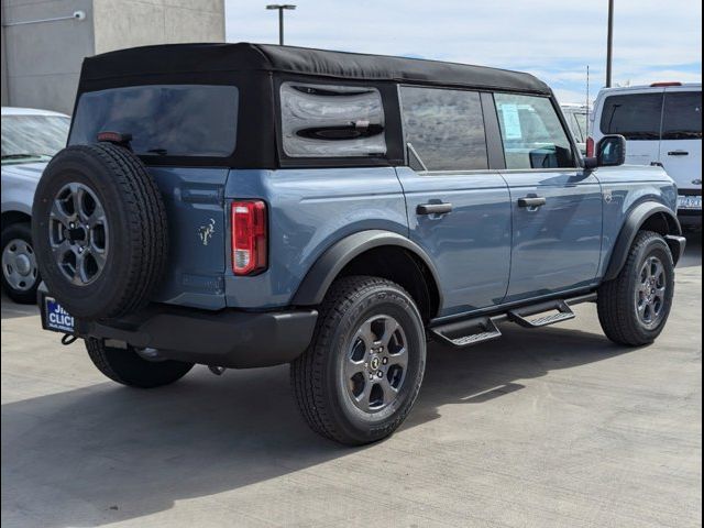
[{"label": "Bronco's rear wheel nearest the camera, on the pavement", "polygon": [[383,278],[343,277],[326,296],[310,346],[292,363],[292,385],[316,432],[360,446],[400,426],[425,365],[424,324],[408,293]]}]

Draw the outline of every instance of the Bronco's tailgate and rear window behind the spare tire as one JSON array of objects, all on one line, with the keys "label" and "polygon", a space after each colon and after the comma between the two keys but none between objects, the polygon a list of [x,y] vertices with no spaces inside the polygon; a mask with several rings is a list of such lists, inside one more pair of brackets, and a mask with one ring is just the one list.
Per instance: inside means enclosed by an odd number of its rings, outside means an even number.
[{"label": "Bronco's tailgate and rear window behind the spare tire", "polygon": [[[227,158],[237,143],[239,90],[224,85],[143,85],[80,95],[69,144],[101,131],[132,136],[160,188],[168,222],[168,266],[152,300],[224,307]],[[218,165],[222,165],[219,163]]]}]

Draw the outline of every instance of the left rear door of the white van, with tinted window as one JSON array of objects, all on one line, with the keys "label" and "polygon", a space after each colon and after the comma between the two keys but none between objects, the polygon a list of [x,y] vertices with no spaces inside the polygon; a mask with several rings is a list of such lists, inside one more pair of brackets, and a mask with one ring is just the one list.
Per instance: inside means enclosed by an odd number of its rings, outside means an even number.
[{"label": "left rear door of the white van, with tinted window", "polygon": [[660,163],[660,122],[664,88],[614,94],[604,99],[600,121],[594,123],[602,134],[626,138],[626,163]]}]

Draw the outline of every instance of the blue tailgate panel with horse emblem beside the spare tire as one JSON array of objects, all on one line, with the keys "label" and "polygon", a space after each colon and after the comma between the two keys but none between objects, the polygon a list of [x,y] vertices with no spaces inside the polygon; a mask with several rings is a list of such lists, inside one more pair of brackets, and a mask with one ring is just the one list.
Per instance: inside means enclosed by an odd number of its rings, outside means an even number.
[{"label": "blue tailgate panel with horse emblem beside the spare tire", "polygon": [[227,168],[150,167],[168,217],[168,264],[153,300],[224,307]]}]

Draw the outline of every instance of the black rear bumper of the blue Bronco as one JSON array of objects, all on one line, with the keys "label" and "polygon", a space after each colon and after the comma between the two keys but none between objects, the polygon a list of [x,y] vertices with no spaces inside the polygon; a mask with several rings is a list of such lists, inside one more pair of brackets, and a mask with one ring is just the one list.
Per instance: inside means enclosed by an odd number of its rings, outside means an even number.
[{"label": "black rear bumper of the blue Bronco", "polygon": [[295,360],[310,343],[317,318],[312,309],[245,312],[150,305],[116,321],[77,319],[75,333],[158,349],[167,359],[251,369]]}]

